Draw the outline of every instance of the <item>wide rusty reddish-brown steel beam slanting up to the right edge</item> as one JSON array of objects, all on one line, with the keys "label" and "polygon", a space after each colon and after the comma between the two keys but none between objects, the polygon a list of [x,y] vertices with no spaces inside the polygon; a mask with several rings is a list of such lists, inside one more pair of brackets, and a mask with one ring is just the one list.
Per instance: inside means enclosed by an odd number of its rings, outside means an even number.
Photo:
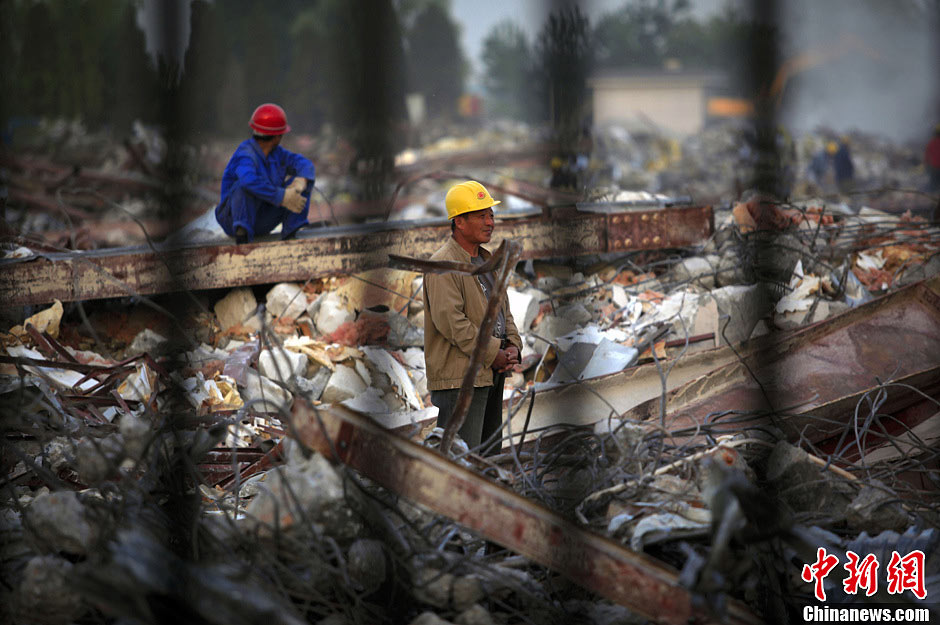
[{"label": "wide rusty reddish-brown steel beam slanting up to the right edge", "polygon": [[[892,382],[879,412],[940,393],[940,278],[878,298],[782,337],[624,413],[677,436],[773,425],[791,440],[841,431],[866,394]],[[912,388],[913,387],[913,388]],[[867,413],[868,407],[860,410]]]}]

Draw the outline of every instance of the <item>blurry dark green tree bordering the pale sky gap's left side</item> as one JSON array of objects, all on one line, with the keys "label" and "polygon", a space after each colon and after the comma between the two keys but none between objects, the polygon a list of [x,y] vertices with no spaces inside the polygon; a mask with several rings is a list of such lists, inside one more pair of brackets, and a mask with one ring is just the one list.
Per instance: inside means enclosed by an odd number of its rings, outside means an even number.
[{"label": "blurry dark green tree bordering the pale sky gap's left side", "polygon": [[424,95],[432,116],[450,117],[463,93],[466,70],[458,37],[456,24],[438,3],[418,14],[408,36],[409,83]]}]

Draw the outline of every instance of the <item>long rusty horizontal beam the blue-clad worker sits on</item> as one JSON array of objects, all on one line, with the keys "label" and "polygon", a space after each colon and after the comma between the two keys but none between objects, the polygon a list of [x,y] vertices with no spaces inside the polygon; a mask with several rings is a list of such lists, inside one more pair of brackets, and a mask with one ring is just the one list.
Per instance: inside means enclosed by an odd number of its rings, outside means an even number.
[{"label": "long rusty horizontal beam the blue-clad worker sits on", "polygon": [[[617,220],[617,221],[615,221]],[[553,209],[499,220],[492,245],[513,239],[523,258],[653,250],[703,243],[710,206],[582,213]],[[153,295],[302,281],[385,267],[388,255],[429,256],[450,236],[446,222],[395,222],[306,230],[292,241],[151,251],[122,248],[0,261],[2,306]]]}]

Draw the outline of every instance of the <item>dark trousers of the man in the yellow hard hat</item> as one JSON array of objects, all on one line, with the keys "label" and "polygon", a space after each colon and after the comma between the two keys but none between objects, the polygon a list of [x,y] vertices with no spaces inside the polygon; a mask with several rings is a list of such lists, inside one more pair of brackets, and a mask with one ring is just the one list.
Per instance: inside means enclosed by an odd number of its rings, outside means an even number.
[{"label": "dark trousers of the man in the yellow hard hat", "polygon": [[[503,384],[505,381],[505,374],[494,373],[492,386],[481,386],[473,389],[473,398],[470,400],[467,418],[464,419],[463,425],[457,430],[460,438],[466,441],[470,449],[479,447],[481,443],[493,436],[502,427]],[[457,405],[457,395],[459,393],[459,388],[431,391],[431,403],[437,406],[438,409],[438,427],[447,427],[454,413],[454,407]],[[496,437],[492,444],[480,453],[483,455],[499,453],[502,447],[499,438]]]}]

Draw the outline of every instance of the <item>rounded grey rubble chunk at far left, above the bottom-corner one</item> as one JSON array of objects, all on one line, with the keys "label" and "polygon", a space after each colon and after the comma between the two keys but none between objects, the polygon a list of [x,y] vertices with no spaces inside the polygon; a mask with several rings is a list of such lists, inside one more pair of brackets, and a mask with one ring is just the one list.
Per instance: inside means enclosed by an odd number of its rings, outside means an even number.
[{"label": "rounded grey rubble chunk at far left, above the bottom-corner one", "polygon": [[23,515],[23,528],[29,543],[40,553],[86,555],[96,539],[85,507],[72,491],[36,497]]}]

